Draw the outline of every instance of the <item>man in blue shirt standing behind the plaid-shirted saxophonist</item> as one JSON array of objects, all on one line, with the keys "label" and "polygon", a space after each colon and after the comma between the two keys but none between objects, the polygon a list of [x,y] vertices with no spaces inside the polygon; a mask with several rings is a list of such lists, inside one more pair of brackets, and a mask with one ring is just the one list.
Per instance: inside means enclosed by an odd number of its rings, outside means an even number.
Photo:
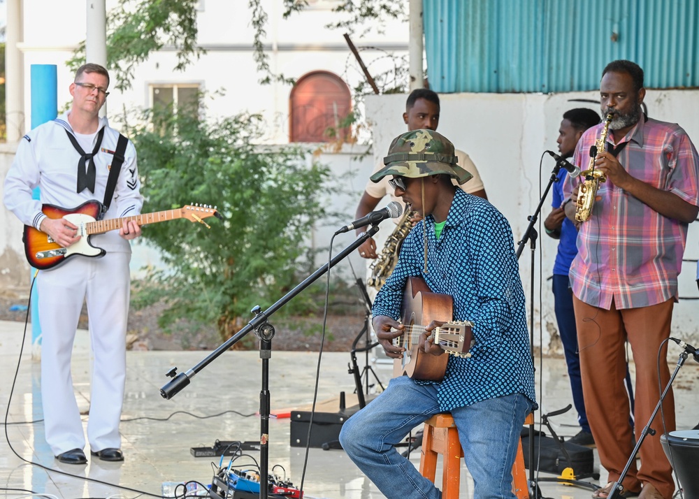
[{"label": "man in blue shirt standing behind the plaid-shirted saxophonist", "polygon": [[[600,122],[600,116],[591,109],[577,108],[563,113],[563,121],[559,128],[559,144],[561,157],[567,159],[575,152],[577,141],[582,133]],[[568,377],[570,377],[570,389],[572,390],[572,400],[577,410],[577,421],[580,424],[580,431],[572,437],[569,442],[578,445],[593,446],[595,439],[592,437],[590,425],[587,423],[585,412],[585,400],[582,394],[582,380],[580,379],[580,356],[577,350],[577,329],[575,328],[575,313],[572,309],[572,294],[568,285],[568,270],[570,263],[577,254],[577,229],[570,219],[565,217],[563,207],[565,201],[563,197],[563,182],[565,182],[568,171],[561,168],[556,183],[552,186],[554,209],[544,221],[546,233],[554,239],[559,240],[556,262],[554,263],[554,310],[556,311],[556,322],[559,324],[559,335],[563,343],[563,353],[565,363],[568,364]]]}]

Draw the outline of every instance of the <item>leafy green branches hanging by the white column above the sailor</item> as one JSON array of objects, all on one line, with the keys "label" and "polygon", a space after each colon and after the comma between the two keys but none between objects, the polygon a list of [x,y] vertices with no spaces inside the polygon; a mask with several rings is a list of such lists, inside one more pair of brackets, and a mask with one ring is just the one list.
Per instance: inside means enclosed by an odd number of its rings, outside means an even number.
[{"label": "leafy green branches hanging by the white column above the sailor", "polygon": [[[183,71],[206,51],[196,45],[198,0],[122,0],[107,15],[107,68],[117,89],[131,87],[134,68],[168,45],[177,51],[175,71]],[[85,64],[85,42],[68,66]]]}]

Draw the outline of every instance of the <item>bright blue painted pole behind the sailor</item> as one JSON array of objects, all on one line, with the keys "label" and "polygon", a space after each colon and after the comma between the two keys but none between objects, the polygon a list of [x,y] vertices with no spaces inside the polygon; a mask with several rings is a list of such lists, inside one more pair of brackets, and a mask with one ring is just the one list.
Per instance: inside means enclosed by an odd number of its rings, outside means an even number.
[{"label": "bright blue painted pole behind the sailor", "polygon": [[[55,64],[31,65],[31,129],[49,122],[58,116],[58,78]],[[34,199],[39,199],[38,187],[34,189]],[[36,270],[31,269],[31,278]],[[41,324],[39,324],[38,293],[31,290],[31,347],[41,345]]]}]

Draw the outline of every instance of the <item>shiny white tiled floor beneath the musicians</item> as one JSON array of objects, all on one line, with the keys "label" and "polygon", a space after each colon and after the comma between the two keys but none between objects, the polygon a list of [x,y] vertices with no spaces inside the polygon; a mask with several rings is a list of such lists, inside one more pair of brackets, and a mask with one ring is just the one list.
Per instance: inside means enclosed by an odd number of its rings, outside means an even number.
[{"label": "shiny white tiled floor beneath the musicians", "polygon": [[[8,408],[10,386],[20,352],[22,324],[0,322],[0,408]],[[672,347],[671,347],[672,348]],[[27,422],[41,419],[39,397],[39,365],[31,360],[25,347],[10,405],[6,434],[13,450],[3,438],[0,442],[0,494],[2,489],[24,489],[53,494],[59,498],[117,497],[136,498],[141,493],[159,497],[162,482],[197,480],[209,484],[213,475],[212,461],[218,458],[195,458],[191,447],[213,444],[215,440],[259,441],[259,409],[261,361],[258,352],[225,352],[192,379],[192,384],[172,400],[164,400],[159,389],[168,379],[171,366],[180,372],[199,363],[207,352],[129,352],[127,392],[124,403],[122,449],[124,463],[103,463],[90,460],[86,466],[62,465],[55,461],[43,439],[43,424]],[[73,379],[78,404],[89,405],[89,348],[87,334],[78,333],[73,354]],[[679,355],[679,349],[678,349]],[[273,410],[298,407],[312,402],[317,353],[273,352],[270,361],[270,391]],[[352,393],[354,381],[347,372],[349,353],[324,354],[319,384],[319,400],[338,396],[340,391]],[[360,368],[363,355],[359,356]],[[670,366],[673,369],[675,366]],[[633,368],[633,366],[632,366]],[[382,382],[388,382],[390,370],[375,366]],[[677,428],[694,426],[699,414],[696,389],[699,366],[688,361],[675,381]],[[571,403],[570,386],[563,359],[537,360],[537,396],[542,412],[552,412]],[[231,411],[226,414],[197,419]],[[233,412],[235,411],[235,412]],[[164,419],[152,421],[144,417]],[[559,435],[577,433],[575,414],[570,412],[552,419]],[[305,449],[290,447],[289,419],[270,422],[269,465],[281,465],[296,486],[301,485]],[[17,457],[14,452],[19,454]],[[86,449],[89,451],[89,449]],[[525,449],[526,451],[526,449]],[[255,453],[252,453],[255,454]],[[259,453],[254,455],[259,458]],[[598,468],[597,456],[596,468]],[[419,463],[419,451],[412,461]],[[227,459],[225,461],[227,463]],[[45,468],[43,468],[45,467]],[[275,471],[279,471],[276,468]],[[607,473],[600,471],[600,481]],[[441,470],[438,470],[438,477]],[[63,474],[65,473],[65,474]],[[541,473],[547,479],[555,475]],[[462,470],[462,497],[471,497],[468,472]],[[577,486],[540,482],[542,495],[548,498],[589,498],[591,491]],[[382,495],[364,477],[342,450],[310,449],[303,488],[309,498],[374,499]],[[6,491],[5,497],[22,496],[27,492]]]}]

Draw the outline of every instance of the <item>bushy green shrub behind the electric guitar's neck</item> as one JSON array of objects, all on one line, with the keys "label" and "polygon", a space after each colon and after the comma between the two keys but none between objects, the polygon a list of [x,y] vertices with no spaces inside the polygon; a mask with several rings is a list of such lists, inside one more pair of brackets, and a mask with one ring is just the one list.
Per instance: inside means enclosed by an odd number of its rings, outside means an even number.
[{"label": "bushy green shrub behind the electric guitar's neck", "polygon": [[297,148],[255,145],[263,125],[257,115],[212,123],[182,112],[149,118],[153,126],[129,129],[143,212],[204,203],[217,205],[224,219],[206,219],[211,229],[182,220],[145,227],[143,238],[169,268],[152,272],[136,298],[166,302],[161,326],[187,317],[217,324],[229,337],[250,320],[254,305],[264,310],[299,281],[301,270],[305,277],[304,238],[324,216],[318,200],[329,171],[309,166]]}]

